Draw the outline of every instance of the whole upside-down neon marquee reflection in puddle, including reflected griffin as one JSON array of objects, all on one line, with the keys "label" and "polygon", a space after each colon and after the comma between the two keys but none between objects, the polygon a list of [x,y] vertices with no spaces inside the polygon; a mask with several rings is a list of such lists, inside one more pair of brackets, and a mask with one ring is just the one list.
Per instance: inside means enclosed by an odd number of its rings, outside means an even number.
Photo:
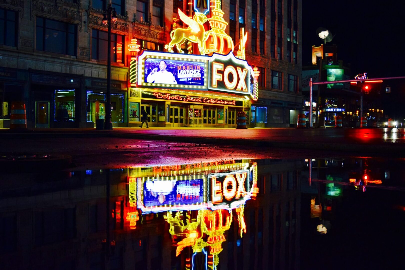
[{"label": "whole upside-down neon marquee reflection in puddle, including reflected griffin", "polygon": [[256,162],[234,160],[156,166],[144,173],[136,168],[130,171],[128,182],[130,229],[136,228],[139,210],[142,214],[166,211],[164,219],[170,225],[176,256],[182,254],[189,270],[217,269],[233,216],[237,216],[242,237],[246,233],[244,205],[259,192]]}]

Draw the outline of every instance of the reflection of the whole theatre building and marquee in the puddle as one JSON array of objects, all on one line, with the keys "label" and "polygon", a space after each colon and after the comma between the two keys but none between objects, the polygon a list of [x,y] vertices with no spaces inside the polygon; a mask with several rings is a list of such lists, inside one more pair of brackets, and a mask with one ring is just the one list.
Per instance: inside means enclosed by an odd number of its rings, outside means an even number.
[{"label": "reflection of the whole theatre building and marquee in the puddle", "polygon": [[[40,177],[25,175],[21,179],[13,175],[13,181],[0,191],[3,232],[0,242],[6,243],[0,252],[2,269],[104,269],[106,261],[109,269],[185,269],[187,264],[194,264],[194,269],[206,269],[204,265],[211,269],[214,266],[267,269],[269,265],[296,268],[299,260],[296,213],[300,208],[296,170],[300,167],[295,162],[267,161],[256,166],[239,160],[109,170],[108,173],[88,170]],[[238,190],[243,192],[242,188],[238,189],[238,177],[242,181],[245,171],[248,172],[245,184],[249,185],[243,185],[246,193],[236,199]],[[175,181],[177,176],[178,181],[184,181],[187,176],[190,181],[194,175],[196,180],[203,179],[200,198],[207,207],[173,209],[171,215],[166,211],[147,211],[147,208],[142,212],[139,179],[141,183],[146,183],[148,177],[150,181]],[[216,193],[210,191],[212,176],[217,179]],[[107,177],[111,183],[108,211]],[[224,187],[224,181],[235,183],[236,190],[232,184]],[[197,204],[193,201],[197,200],[196,186],[178,187],[173,186],[176,198],[177,191],[181,198],[189,192],[193,198],[189,197],[188,201]],[[167,190],[155,191],[167,193]],[[233,192],[235,196],[231,198]],[[225,205],[216,209],[208,207],[213,195],[215,198],[221,193]],[[246,196],[251,200],[246,200]],[[170,202],[168,197],[166,201]],[[161,201],[149,202],[160,204]],[[187,206],[186,197],[182,202]],[[103,243],[107,239],[107,213],[108,244]],[[112,241],[115,245],[111,245]],[[183,249],[176,256],[179,243]],[[108,260],[106,245],[110,251]]]}]

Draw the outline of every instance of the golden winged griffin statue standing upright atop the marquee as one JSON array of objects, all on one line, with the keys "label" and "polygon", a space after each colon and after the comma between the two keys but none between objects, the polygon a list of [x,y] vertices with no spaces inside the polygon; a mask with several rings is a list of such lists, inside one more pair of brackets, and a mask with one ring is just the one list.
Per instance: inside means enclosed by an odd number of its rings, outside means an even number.
[{"label": "golden winged griffin statue standing upright atop the marquee", "polygon": [[205,16],[203,13],[196,12],[194,17],[191,19],[179,9],[179,17],[181,21],[183,21],[189,27],[177,28],[173,30],[170,33],[172,40],[164,48],[167,49],[169,53],[173,53],[173,47],[176,46],[179,53],[184,53],[184,51],[181,49],[181,45],[188,40],[192,43],[197,43],[201,55],[205,55],[206,51],[204,42],[207,40],[208,36],[205,35],[204,23],[208,21],[207,16]]}]

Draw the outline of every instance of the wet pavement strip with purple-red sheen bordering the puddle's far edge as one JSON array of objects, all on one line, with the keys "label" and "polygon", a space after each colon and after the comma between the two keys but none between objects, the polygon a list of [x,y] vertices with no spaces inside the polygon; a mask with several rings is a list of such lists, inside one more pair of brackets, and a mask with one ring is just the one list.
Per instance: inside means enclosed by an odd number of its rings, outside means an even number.
[{"label": "wet pavement strip with purple-red sheen bordering the puddle's far edge", "polygon": [[223,146],[126,138],[3,139],[1,148],[2,153],[70,155],[72,162],[83,169],[175,165],[224,159],[296,159],[347,155],[305,149]]}]

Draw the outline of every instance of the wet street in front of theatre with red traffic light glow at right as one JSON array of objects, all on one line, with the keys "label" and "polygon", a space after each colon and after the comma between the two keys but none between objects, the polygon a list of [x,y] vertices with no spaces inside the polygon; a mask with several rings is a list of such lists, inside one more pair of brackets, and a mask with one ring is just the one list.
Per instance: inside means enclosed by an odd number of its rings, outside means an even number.
[{"label": "wet street in front of theatre with red traffic light glow at right", "polygon": [[405,130],[387,128],[114,128],[0,130],[0,139],[113,137],[403,155]]}]

